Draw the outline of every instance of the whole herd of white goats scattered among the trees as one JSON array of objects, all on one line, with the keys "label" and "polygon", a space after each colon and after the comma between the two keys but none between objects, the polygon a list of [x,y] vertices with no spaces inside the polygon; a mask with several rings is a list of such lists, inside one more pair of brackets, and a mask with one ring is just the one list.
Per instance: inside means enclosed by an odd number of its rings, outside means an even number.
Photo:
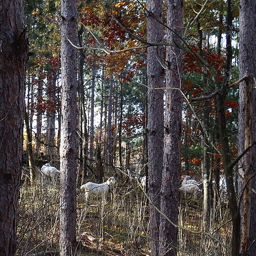
[{"label": "whole herd of white goats scattered among the trees", "polygon": [[[56,179],[60,174],[60,171],[57,168],[51,166],[49,163],[44,164],[42,166],[41,172],[44,174],[46,178],[50,179]],[[90,194],[99,195],[102,197],[102,201],[106,201],[106,197],[109,192],[110,186],[114,185],[115,183],[115,177],[109,177],[108,180],[103,183],[87,182],[84,185],[82,185],[80,189],[85,192],[86,201]],[[146,188],[146,176],[143,176],[141,178],[140,184],[143,189]],[[185,196],[189,194],[196,197],[202,196],[202,189],[199,188],[200,186],[201,183],[191,179],[189,175],[185,175],[185,178],[181,182],[181,186],[179,189],[180,191],[182,191],[182,193],[185,194]]]}]

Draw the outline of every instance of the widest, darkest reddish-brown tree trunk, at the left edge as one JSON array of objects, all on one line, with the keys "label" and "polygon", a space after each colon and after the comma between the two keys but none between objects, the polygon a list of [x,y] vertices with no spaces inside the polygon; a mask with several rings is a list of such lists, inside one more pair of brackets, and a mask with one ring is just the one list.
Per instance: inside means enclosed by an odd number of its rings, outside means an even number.
[{"label": "widest, darkest reddish-brown tree trunk, at the left edge", "polygon": [[0,254],[14,256],[21,177],[27,40],[24,1],[0,3]]}]

